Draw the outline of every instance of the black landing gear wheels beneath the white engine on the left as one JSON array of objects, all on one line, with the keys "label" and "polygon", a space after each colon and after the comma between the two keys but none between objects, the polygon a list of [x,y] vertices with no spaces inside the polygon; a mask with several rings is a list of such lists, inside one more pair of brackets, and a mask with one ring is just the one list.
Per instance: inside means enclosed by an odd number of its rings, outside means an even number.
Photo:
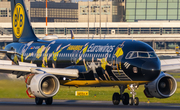
[{"label": "black landing gear wheels beneath the white engine on the left", "polygon": [[52,102],[53,102],[53,98],[52,97],[50,97],[50,98],[38,98],[38,97],[36,97],[35,98],[36,105],[42,105],[43,100],[45,100],[46,105],[51,105]]}]

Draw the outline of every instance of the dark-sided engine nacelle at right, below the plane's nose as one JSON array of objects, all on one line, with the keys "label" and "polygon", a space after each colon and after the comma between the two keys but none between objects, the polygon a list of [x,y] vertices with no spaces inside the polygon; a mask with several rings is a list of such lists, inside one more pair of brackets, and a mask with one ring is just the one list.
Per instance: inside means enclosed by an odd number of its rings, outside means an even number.
[{"label": "dark-sided engine nacelle at right, below the plane's nose", "polygon": [[157,79],[145,85],[144,94],[149,98],[168,98],[175,93],[176,89],[177,82],[174,77],[161,72]]}]

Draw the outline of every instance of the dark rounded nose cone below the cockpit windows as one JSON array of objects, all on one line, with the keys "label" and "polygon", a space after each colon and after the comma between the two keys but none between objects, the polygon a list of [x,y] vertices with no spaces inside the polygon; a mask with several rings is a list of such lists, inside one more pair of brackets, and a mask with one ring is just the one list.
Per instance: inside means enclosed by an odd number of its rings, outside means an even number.
[{"label": "dark rounded nose cone below the cockpit windows", "polygon": [[159,59],[146,61],[141,68],[145,80],[155,80],[161,72],[161,64]]}]

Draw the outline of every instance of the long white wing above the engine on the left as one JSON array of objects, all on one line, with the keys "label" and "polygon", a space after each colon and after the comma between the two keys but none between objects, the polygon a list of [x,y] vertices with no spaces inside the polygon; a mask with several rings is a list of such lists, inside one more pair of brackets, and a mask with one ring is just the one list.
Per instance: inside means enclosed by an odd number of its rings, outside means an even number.
[{"label": "long white wing above the engine on the left", "polygon": [[16,74],[17,77],[24,76],[29,73],[43,74],[50,73],[56,76],[67,78],[77,78],[79,71],[77,69],[61,69],[61,68],[43,68],[37,67],[36,64],[19,62],[19,65],[12,65],[12,61],[0,60],[1,73]]}]

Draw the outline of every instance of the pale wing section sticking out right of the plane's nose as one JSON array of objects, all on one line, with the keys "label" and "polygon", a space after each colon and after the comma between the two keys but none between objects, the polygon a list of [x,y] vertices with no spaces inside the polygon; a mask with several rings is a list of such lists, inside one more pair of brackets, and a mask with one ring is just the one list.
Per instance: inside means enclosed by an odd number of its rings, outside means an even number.
[{"label": "pale wing section sticking out right of the plane's nose", "polygon": [[161,71],[171,71],[180,69],[180,58],[161,60]]}]

